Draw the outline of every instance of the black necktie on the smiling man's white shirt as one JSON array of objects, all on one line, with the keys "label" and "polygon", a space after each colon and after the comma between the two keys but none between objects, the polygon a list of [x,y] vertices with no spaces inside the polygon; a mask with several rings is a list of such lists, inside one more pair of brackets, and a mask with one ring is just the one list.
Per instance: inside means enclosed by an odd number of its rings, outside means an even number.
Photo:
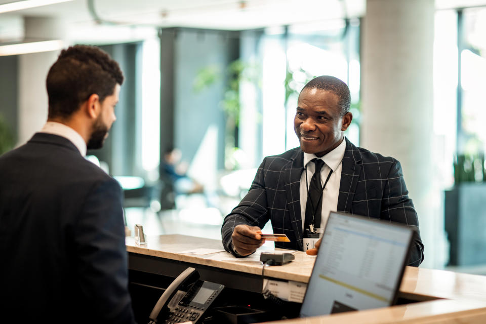
[{"label": "black necktie on the smiling man's white shirt", "polygon": [[[322,184],[320,182],[320,169],[324,165],[324,161],[320,158],[314,158],[312,161],[315,165],[315,171],[310,180],[309,190],[307,192],[304,229],[308,229],[310,224],[315,228],[319,228],[322,214]],[[307,177],[307,173],[305,176]]]}]

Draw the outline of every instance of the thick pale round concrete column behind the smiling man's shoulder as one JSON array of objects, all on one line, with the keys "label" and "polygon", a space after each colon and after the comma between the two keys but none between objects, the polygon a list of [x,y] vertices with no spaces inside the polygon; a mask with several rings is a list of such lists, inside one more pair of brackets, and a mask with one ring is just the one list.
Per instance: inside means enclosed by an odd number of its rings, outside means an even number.
[{"label": "thick pale round concrete column behind the smiling man's shoulder", "polygon": [[[361,146],[397,158],[413,199],[425,267],[437,267],[443,214],[433,184],[434,0],[367,0]],[[442,227],[440,220],[442,219]]]}]

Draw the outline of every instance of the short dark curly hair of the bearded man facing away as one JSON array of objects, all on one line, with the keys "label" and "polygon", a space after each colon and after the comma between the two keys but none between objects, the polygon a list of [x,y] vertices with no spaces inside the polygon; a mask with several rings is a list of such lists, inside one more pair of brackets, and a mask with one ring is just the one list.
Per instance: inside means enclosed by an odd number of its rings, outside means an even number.
[{"label": "short dark curly hair of the bearded man facing away", "polygon": [[46,79],[49,117],[68,117],[92,94],[103,102],[123,83],[118,63],[94,46],[75,45],[62,50]]}]

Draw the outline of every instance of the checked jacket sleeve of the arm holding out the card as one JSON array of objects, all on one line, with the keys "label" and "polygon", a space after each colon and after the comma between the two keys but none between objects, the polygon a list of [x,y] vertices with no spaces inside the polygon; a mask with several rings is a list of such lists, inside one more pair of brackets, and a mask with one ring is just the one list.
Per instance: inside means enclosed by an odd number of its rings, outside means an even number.
[{"label": "checked jacket sleeve of the arm holding out the card", "polygon": [[262,164],[258,168],[250,190],[246,196],[241,199],[238,206],[225,217],[223,226],[221,227],[223,246],[226,251],[230,252],[235,257],[241,256],[236,254],[231,248],[231,234],[233,233],[234,228],[240,224],[263,228],[269,220],[267,193],[264,181],[265,161],[266,158],[263,159]]}]

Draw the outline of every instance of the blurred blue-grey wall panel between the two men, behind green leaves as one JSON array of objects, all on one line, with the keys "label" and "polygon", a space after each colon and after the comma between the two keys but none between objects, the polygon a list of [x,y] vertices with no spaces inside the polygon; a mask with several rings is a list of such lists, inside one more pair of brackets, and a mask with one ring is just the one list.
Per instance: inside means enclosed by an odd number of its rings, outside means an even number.
[{"label": "blurred blue-grey wall panel between the two men, behind green leaves", "polygon": [[[221,107],[228,64],[239,55],[237,38],[227,32],[182,29],[176,38],[175,141],[183,158],[192,160],[210,127],[217,127],[217,167],[224,168],[225,119]],[[194,90],[198,73],[209,66],[219,71],[214,82]]]}]

